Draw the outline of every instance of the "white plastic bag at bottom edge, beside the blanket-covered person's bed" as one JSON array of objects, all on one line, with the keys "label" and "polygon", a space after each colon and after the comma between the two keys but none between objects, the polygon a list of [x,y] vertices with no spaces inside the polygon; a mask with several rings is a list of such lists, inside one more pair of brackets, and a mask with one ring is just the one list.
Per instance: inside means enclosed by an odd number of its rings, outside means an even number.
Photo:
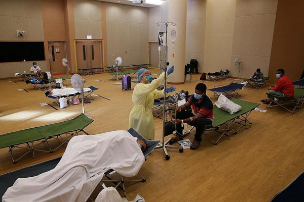
[{"label": "white plastic bag at bottom edge, beside the blanket-covered person's bed", "polygon": [[95,202],[123,202],[122,197],[114,187],[106,187],[102,184],[103,189],[98,194]]}]

